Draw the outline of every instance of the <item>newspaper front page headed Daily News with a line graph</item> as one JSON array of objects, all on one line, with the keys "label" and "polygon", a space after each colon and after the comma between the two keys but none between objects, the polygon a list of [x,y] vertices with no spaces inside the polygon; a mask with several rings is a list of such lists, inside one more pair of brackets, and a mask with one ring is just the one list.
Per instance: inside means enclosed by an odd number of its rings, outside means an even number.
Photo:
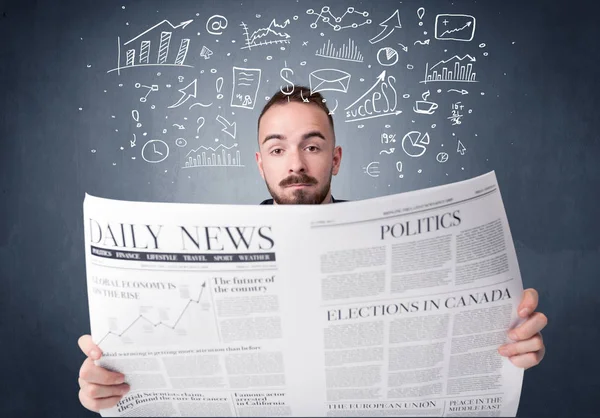
[{"label": "newspaper front page headed Daily News with a line graph", "polygon": [[280,266],[293,251],[277,212],[257,209],[86,195],[97,364],[131,388],[103,416],[292,414]]}]

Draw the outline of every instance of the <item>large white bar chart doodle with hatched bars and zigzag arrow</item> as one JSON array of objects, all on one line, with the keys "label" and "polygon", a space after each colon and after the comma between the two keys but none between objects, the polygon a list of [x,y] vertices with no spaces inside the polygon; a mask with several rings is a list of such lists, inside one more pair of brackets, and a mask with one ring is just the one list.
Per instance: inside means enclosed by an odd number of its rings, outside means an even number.
[{"label": "large white bar chart doodle with hatched bars and zigzag arrow", "polygon": [[[173,37],[173,32],[175,30],[178,30],[178,33],[180,33],[181,30],[185,29],[186,26],[188,26],[192,22],[193,19],[186,20],[185,22],[181,22],[179,25],[175,26],[168,20],[163,20],[162,22],[157,23],[145,32],[142,32],[135,38],[125,42],[123,45],[121,45],[121,37],[117,37],[117,67],[108,70],[107,73],[117,71],[117,74],[120,75],[121,70],[123,69],[144,66],[192,67],[191,65],[185,64],[185,59],[187,57],[187,53],[190,47],[189,38],[181,39],[179,48],[177,49],[177,52],[175,54],[173,54],[172,52],[174,50],[171,49],[171,40]],[[143,39],[140,40],[140,38]],[[158,49],[156,51],[152,49],[152,41],[154,39],[158,39]],[[139,51],[135,48],[138,45]],[[124,57],[122,57],[121,53],[122,48],[126,49]],[[170,51],[171,55],[169,55]],[[154,57],[156,57],[156,61],[154,61]],[[122,61],[123,58],[125,59],[124,61]]]}]

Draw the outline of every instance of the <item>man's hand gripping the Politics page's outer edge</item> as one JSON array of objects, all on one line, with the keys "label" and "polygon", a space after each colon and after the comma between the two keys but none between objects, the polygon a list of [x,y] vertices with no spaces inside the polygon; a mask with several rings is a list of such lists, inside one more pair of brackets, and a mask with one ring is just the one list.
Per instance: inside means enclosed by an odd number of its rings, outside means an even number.
[{"label": "man's hand gripping the Politics page's outer edge", "polygon": [[498,348],[500,355],[508,357],[515,366],[526,370],[538,365],[546,353],[540,331],[548,323],[548,318],[541,312],[534,312],[537,304],[537,291],[525,289],[517,312],[521,318],[527,320],[509,331],[508,338],[515,341],[514,343],[504,344]]}]

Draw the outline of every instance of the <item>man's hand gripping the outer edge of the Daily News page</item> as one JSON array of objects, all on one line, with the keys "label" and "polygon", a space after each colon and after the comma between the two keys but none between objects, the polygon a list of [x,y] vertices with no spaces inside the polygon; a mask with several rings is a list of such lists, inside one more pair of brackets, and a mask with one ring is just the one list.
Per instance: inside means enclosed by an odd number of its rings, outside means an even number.
[{"label": "man's hand gripping the outer edge of the Daily News page", "polygon": [[102,357],[102,351],[90,335],[83,335],[78,342],[88,356],[79,370],[79,401],[94,412],[115,406],[129,391],[129,385],[123,383],[125,376],[94,364],[94,360]]}]

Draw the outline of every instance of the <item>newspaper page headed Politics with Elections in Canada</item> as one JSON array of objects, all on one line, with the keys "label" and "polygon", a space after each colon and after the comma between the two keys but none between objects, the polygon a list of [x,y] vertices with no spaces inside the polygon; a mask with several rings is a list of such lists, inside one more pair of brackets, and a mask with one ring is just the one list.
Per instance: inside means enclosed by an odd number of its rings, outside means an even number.
[{"label": "newspaper page headed Politics with Elections in Canada", "polygon": [[320,295],[306,310],[324,414],[516,415],[523,369],[497,348],[523,287],[493,172],[312,219],[305,276],[319,279],[297,294]]}]

